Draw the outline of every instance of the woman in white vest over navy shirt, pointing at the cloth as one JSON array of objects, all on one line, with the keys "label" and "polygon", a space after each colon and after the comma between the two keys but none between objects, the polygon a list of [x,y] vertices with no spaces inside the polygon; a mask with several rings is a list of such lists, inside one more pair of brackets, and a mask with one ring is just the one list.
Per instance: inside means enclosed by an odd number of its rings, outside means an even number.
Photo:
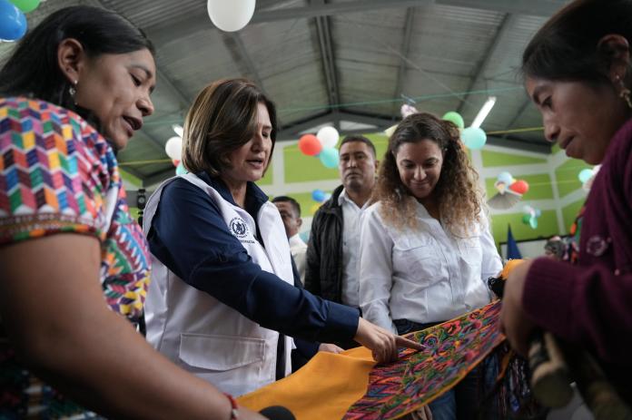
[{"label": "woman in white vest over navy shirt, pointing at the cloth", "polygon": [[[153,256],[147,339],[174,362],[235,395],[290,373],[291,337],[354,338],[379,361],[419,347],[359,311],[295,288],[276,207],[254,181],[276,138],[273,103],[254,84],[205,87],[187,115],[183,165],[147,203]],[[281,334],[280,334],[281,333]]]}]

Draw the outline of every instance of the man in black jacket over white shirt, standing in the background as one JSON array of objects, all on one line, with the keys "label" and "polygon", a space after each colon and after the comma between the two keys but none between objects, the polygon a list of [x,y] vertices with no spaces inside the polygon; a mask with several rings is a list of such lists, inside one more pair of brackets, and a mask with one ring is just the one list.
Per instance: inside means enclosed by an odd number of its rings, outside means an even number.
[{"label": "man in black jacket over white shirt, standing in the background", "polygon": [[360,135],[344,138],[340,156],[342,185],[322,204],[311,222],[305,288],[322,298],[360,308],[360,216],[375,185],[378,161],[373,143]]}]

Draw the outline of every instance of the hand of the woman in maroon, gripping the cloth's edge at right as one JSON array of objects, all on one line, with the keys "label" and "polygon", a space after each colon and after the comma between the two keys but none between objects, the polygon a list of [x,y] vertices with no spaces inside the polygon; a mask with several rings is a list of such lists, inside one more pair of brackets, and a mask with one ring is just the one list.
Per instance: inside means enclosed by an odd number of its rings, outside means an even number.
[{"label": "hand of the woman in maroon, gripping the cloth's edge at right", "polygon": [[528,354],[528,337],[536,327],[522,308],[522,294],[532,262],[526,260],[511,270],[500,308],[500,330],[507,336],[511,347],[522,356]]}]

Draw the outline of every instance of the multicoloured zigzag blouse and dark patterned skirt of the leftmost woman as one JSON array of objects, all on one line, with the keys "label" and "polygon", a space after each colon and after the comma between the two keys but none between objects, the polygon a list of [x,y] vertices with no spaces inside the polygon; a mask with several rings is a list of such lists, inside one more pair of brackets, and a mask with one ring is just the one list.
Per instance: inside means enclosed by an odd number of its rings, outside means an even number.
[{"label": "multicoloured zigzag blouse and dark patterned skirt of the leftmost woman", "polygon": [[[114,151],[74,112],[0,98],[0,247],[62,232],[100,240],[105,302],[137,320],[150,259],[143,231],[129,215]],[[2,335],[0,372],[0,418],[82,411],[25,371]]]}]

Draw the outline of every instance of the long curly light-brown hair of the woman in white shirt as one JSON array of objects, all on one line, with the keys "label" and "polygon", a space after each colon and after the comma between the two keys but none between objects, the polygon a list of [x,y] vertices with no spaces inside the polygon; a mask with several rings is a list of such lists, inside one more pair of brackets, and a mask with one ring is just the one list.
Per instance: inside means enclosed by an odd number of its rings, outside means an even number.
[{"label": "long curly light-brown hair of the woman in white shirt", "polygon": [[473,223],[480,222],[479,174],[469,163],[457,126],[430,113],[409,115],[390,136],[371,201],[380,201],[380,216],[393,228],[418,228],[417,202],[400,179],[396,156],[403,143],[424,140],[436,142],[443,151],[443,165],[434,189],[441,221],[453,235],[462,237],[472,229]]}]

